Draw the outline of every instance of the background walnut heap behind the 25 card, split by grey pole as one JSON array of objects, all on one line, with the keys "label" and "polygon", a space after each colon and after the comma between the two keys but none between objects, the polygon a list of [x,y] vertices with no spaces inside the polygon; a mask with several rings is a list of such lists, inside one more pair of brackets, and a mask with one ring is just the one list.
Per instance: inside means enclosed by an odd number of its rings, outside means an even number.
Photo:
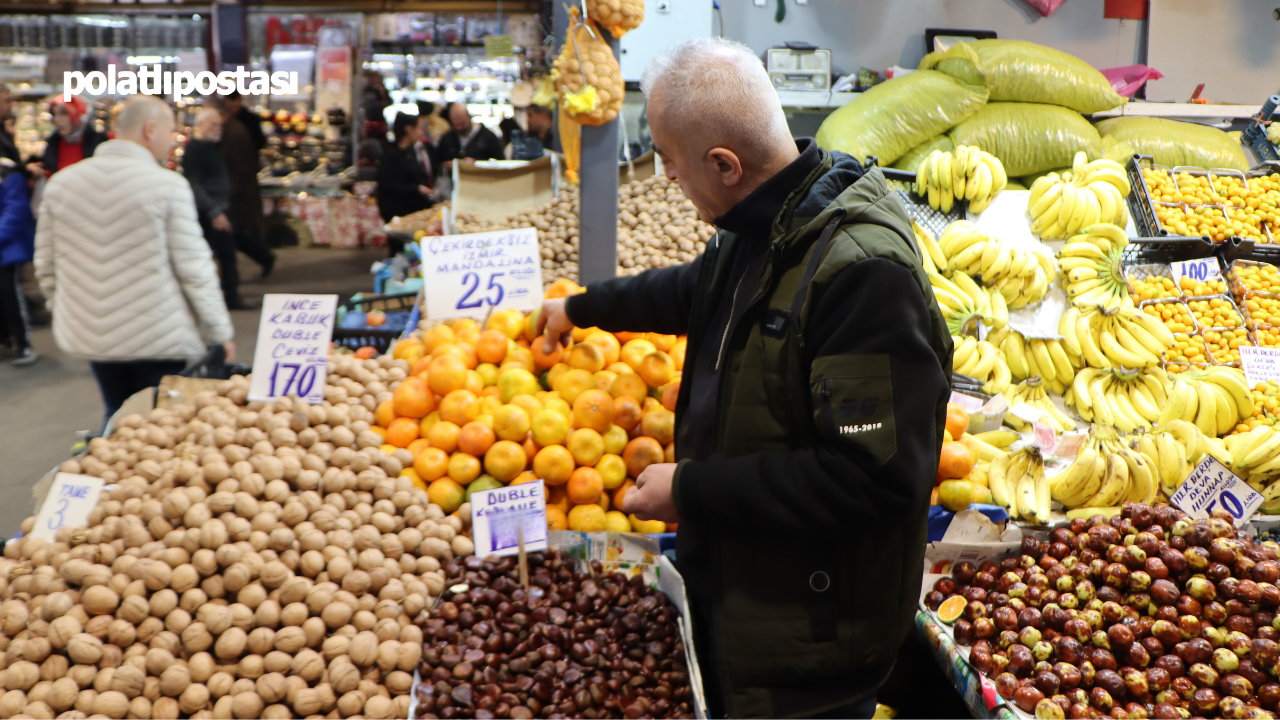
[{"label": "background walnut heap behind the 25 card, split by grey pole", "polygon": [[[503,223],[460,213],[460,233],[532,227],[543,252],[543,283],[577,282],[577,193],[561,192],[549,205],[507,218]],[[618,188],[618,274],[689,263],[704,250],[716,228],[698,219],[698,210],[680,184],[663,176]]]}]

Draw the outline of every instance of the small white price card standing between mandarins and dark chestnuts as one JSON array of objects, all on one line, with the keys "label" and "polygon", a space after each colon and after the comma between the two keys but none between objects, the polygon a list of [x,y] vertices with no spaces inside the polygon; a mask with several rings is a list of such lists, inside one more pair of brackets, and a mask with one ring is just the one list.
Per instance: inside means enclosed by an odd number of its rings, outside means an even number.
[{"label": "small white price card standing between mandarins and dark chestnuts", "polygon": [[[476,555],[547,550],[547,487],[541,480],[471,493],[471,539]],[[521,537],[521,534],[524,537]]]}]

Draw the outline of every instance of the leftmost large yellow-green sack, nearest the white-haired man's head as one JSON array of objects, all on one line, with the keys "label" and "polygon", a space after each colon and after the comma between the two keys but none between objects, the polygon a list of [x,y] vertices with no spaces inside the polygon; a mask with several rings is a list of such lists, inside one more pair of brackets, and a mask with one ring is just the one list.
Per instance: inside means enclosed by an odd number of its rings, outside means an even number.
[{"label": "leftmost large yellow-green sack, nearest the white-haired man's head", "polygon": [[818,145],[859,161],[876,155],[890,165],[987,104],[987,88],[933,70],[884,81],[840,108],[818,128]]}]

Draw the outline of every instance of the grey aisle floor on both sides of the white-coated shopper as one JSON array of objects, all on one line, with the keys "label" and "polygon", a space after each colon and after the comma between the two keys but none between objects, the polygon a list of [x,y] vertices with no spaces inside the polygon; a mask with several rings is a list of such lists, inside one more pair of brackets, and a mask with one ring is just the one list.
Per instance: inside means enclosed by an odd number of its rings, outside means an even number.
[{"label": "grey aisle floor on both sides of the white-coated shopper", "polygon": [[[259,279],[260,268],[241,255],[246,300],[260,304],[265,292],[332,292],[340,301],[370,292],[369,266],[387,251],[288,247],[276,255],[275,270],[265,281]],[[28,293],[35,292],[28,286]],[[257,310],[232,313],[236,359],[246,365],[253,360],[257,318]],[[32,514],[31,486],[69,456],[76,432],[102,423],[102,400],[88,361],[59,352],[47,325],[36,328],[35,346],[41,357],[29,368],[14,368],[10,356],[0,357],[0,537],[13,534]]]}]

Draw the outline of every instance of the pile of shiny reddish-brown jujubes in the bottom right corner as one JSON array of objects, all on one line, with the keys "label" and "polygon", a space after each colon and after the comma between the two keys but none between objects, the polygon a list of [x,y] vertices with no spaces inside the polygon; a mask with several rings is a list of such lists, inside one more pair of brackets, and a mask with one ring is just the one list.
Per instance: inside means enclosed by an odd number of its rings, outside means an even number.
[{"label": "pile of shiny reddish-brown jujubes in the bottom right corner", "polygon": [[1076,519],[1020,557],[957,564],[925,605],[968,601],[956,642],[1037,717],[1275,717],[1280,544],[1219,512]]}]

